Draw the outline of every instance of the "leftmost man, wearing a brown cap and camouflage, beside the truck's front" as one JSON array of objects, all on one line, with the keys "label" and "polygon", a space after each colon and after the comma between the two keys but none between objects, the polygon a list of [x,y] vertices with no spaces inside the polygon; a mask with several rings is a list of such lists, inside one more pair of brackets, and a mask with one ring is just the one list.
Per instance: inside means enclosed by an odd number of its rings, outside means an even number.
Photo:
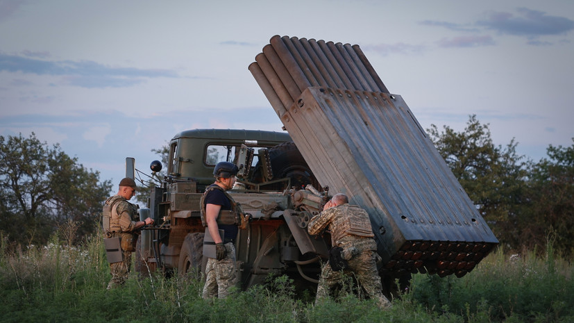
[{"label": "leftmost man, wearing a brown cap and camouflage, beside the truck's front", "polygon": [[103,206],[103,231],[105,238],[120,238],[122,260],[110,263],[112,280],[108,283],[108,290],[122,285],[128,279],[131,266],[131,254],[135,249],[137,240],[136,230],[142,226],[153,224],[148,217],[144,221],[137,221],[137,206],[128,202],[135,195],[135,181],[130,178],[119,182],[119,191],[108,198]]}]

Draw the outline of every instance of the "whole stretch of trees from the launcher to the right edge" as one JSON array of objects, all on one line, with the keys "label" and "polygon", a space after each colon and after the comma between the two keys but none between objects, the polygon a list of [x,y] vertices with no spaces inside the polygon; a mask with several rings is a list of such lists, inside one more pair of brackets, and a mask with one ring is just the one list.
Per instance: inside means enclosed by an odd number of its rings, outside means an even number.
[{"label": "whole stretch of trees from the launcher to the right edge", "polygon": [[[488,124],[469,116],[463,131],[432,124],[430,139],[507,250],[544,249],[574,255],[574,144],[546,149],[538,162],[495,145]],[[573,142],[574,142],[574,138]]]}]

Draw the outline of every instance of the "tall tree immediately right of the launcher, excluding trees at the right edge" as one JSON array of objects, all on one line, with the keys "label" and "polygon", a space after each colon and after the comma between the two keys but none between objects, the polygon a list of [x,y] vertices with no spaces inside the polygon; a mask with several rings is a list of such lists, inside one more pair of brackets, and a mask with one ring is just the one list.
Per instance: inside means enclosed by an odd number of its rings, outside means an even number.
[{"label": "tall tree immediately right of the launcher, excluding trees at the right edge", "polygon": [[439,132],[434,124],[427,131],[499,240],[516,240],[512,236],[518,233],[513,231],[512,223],[523,203],[527,163],[521,162],[523,156],[516,154],[514,139],[504,148],[496,146],[488,124],[480,124],[476,115],[469,116],[462,132],[449,126]]}]

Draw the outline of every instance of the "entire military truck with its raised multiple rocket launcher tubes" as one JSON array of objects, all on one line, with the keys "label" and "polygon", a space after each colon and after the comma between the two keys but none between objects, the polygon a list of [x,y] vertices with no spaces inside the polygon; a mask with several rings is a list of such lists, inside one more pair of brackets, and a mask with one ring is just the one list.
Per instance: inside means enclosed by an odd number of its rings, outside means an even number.
[{"label": "entire military truck with its raised multiple rocket launcher tubes", "polygon": [[219,160],[242,169],[230,194],[254,218],[236,246],[244,288],[271,273],[316,283],[330,240],[328,233],[310,237],[306,226],[330,192],[346,193],[369,213],[386,281],[414,272],[464,276],[498,244],[358,45],[276,35],[248,69],[287,133],[176,135],[167,176],[141,214],[158,224],[142,235],[144,264],[201,268],[199,198]]}]

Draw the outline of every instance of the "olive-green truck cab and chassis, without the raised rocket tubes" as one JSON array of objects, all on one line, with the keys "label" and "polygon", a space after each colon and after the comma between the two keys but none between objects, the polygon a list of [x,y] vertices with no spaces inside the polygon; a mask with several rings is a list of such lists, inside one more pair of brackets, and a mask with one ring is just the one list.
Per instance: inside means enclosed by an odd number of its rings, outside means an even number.
[{"label": "olive-green truck cab and chassis, without the raised rocket tubes", "polygon": [[[204,270],[199,200],[214,182],[220,161],[239,165],[230,194],[252,215],[248,229],[237,237],[237,261],[244,288],[261,283],[268,274],[299,276],[316,283],[319,256],[326,256],[322,239],[306,233],[306,223],[328,199],[285,132],[233,129],[194,129],[169,142],[169,163],[160,185],[151,189],[141,217],[156,226],[142,231],[136,249],[137,270],[177,269],[180,274]],[[161,170],[158,161],[151,170]],[[133,162],[128,159],[128,165]],[[133,174],[133,168],[130,174]]]}]

